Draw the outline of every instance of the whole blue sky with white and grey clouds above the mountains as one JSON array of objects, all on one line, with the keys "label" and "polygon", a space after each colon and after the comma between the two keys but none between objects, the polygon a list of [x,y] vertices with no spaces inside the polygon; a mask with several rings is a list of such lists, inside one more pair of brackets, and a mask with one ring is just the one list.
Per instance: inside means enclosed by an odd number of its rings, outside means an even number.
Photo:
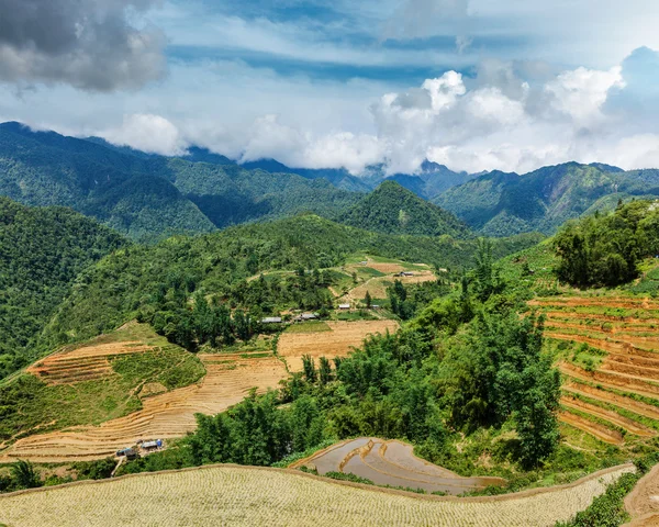
[{"label": "whole blue sky with white and grey clouds above the mountains", "polygon": [[654,0],[0,0],[0,120],[359,175],[659,167]]}]

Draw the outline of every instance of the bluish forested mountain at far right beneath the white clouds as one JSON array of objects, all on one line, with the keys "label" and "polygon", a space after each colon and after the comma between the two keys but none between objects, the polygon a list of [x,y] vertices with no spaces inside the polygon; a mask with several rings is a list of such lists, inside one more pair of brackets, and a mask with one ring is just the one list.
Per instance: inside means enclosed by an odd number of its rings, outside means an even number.
[{"label": "bluish forested mountain at far right beneath the white clouds", "polygon": [[[615,194],[615,200],[606,199]],[[629,197],[659,195],[659,171],[622,171],[568,162],[530,173],[492,171],[440,194],[434,202],[490,236],[554,233],[569,218]]]}]

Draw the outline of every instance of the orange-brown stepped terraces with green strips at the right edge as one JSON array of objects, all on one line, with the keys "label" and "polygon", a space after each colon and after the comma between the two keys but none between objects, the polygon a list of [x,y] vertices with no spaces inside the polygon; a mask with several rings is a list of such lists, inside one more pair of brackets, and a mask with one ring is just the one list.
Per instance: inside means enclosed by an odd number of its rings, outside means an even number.
[{"label": "orange-brown stepped terraces with green strips at the right edge", "polygon": [[[573,343],[560,419],[611,445],[659,430],[659,303],[643,298],[571,296],[529,302],[547,316],[546,336]],[[589,348],[580,351],[580,345]],[[578,360],[583,352],[591,365]],[[594,355],[593,355],[594,354]]]}]

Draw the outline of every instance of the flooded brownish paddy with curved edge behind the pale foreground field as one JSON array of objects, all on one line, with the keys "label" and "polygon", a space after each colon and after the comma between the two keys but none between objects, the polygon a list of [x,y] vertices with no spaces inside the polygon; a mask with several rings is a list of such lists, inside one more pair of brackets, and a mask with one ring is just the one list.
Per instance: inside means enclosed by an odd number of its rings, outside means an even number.
[{"label": "flooded brownish paddy with curved edge behind the pale foreground field", "polygon": [[371,480],[377,485],[422,489],[428,493],[444,492],[458,495],[504,485],[501,478],[461,478],[442,467],[414,456],[414,448],[401,441],[386,441],[361,437],[334,445],[311,458],[293,463],[292,468],[308,467],[323,475],[343,472]]}]

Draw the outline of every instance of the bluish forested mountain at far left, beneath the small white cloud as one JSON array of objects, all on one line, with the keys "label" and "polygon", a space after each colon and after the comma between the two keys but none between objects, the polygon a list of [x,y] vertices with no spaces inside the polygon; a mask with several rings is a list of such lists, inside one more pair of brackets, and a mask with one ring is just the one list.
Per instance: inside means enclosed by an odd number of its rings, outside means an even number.
[{"label": "bluish forested mountain at far left, beneath the small white cloud", "polygon": [[70,206],[139,239],[211,231],[210,220],[163,176],[148,158],[18,123],[0,126],[0,194]]}]

